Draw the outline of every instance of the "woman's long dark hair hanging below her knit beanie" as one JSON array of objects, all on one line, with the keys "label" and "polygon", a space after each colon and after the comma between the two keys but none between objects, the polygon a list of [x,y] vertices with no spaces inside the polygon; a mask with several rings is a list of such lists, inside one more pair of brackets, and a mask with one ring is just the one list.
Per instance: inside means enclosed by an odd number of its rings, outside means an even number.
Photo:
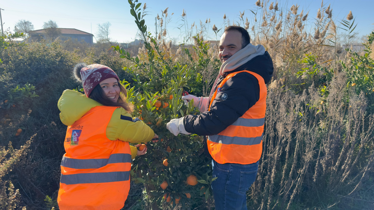
[{"label": "woman's long dark hair hanging below her knit beanie", "polygon": [[118,97],[117,102],[113,102],[112,100],[108,99],[105,95],[104,90],[101,88],[101,86],[98,84],[96,87],[93,88],[92,92],[90,93],[91,99],[99,102],[100,104],[104,106],[121,106],[124,108],[128,113],[132,113],[134,111],[134,105],[127,102],[127,91],[125,87],[122,86],[122,84],[117,80],[118,86],[121,90],[120,95]]}]

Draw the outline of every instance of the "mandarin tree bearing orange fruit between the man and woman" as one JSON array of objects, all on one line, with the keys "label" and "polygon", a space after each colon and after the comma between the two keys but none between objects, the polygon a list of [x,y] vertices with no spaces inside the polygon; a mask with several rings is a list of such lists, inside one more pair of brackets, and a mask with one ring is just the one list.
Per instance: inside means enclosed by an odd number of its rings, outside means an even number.
[{"label": "mandarin tree bearing orange fruit between the man and woman", "polygon": [[[194,88],[197,72],[164,56],[157,40],[147,33],[139,9],[141,3],[131,0],[129,3],[131,14],[145,40],[147,55],[143,56],[145,59],[133,58],[119,46],[113,48],[121,58],[134,64],[123,68],[133,76],[132,87],[127,81],[122,81],[128,89],[128,100],[135,105],[134,116],[159,135],[158,141],[147,143],[147,153],[133,162],[132,180],[144,183],[148,194],[146,203],[152,209],[168,205],[167,200],[173,207],[181,205],[182,209],[206,205],[212,195],[210,183],[214,179],[210,160],[203,154],[203,138],[197,135],[174,136],[166,129],[166,123],[174,118],[197,114],[193,101],[185,105],[181,99],[184,90]],[[142,81],[137,72],[145,74],[148,80]],[[202,187],[204,192],[200,192]]]}]

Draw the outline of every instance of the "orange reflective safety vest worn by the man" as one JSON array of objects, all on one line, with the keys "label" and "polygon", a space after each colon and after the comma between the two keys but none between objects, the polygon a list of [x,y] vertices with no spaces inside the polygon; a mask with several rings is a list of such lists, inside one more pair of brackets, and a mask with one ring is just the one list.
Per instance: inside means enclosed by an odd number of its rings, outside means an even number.
[{"label": "orange reflective safety vest worn by the man", "polygon": [[[223,87],[226,81],[240,72],[254,75],[260,84],[260,99],[239,117],[232,125],[217,135],[208,136],[208,151],[217,163],[251,164],[260,160],[262,153],[262,139],[264,133],[267,89],[264,78],[255,72],[238,71],[224,78],[217,86]],[[217,95],[215,90],[209,109]],[[227,96],[226,96],[227,97]]]}]

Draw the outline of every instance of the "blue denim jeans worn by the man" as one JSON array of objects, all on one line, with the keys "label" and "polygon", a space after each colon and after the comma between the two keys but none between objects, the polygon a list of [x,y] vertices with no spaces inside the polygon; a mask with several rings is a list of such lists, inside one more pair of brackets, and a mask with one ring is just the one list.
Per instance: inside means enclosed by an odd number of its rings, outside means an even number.
[{"label": "blue denim jeans worn by the man", "polygon": [[215,210],[247,210],[246,192],[256,179],[258,161],[252,164],[220,164],[212,160]]}]

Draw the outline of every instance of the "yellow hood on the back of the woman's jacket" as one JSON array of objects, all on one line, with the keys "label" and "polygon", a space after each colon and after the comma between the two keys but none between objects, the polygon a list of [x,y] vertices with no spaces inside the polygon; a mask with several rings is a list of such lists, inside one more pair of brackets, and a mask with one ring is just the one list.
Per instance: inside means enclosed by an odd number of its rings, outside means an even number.
[{"label": "yellow hood on the back of the woman's jacket", "polygon": [[71,126],[75,121],[79,120],[83,115],[90,111],[90,109],[102,105],[75,90],[64,90],[58,100],[57,106],[61,111],[61,122],[66,126]]}]

